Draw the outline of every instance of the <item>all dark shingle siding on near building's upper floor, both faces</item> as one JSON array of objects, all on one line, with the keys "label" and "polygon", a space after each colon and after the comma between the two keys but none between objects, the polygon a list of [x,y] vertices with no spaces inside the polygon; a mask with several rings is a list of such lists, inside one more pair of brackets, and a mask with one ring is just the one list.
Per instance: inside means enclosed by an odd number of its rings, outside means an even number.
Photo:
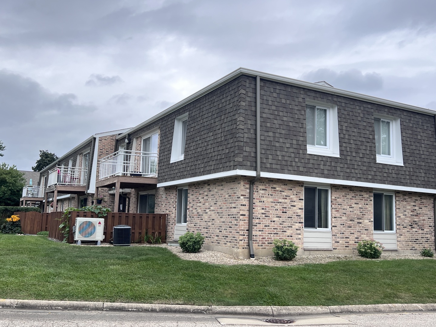
[{"label": "all dark shingle siding on near building's upper floor, both faces", "polygon": [[[263,79],[260,89],[262,171],[436,188],[432,115]],[[306,99],[337,105],[340,158],[307,154]],[[171,164],[174,119],[186,112],[185,158]],[[400,118],[405,167],[376,163],[374,113]],[[160,128],[159,183],[255,170],[255,78],[235,78],[129,137],[155,127]]]}]

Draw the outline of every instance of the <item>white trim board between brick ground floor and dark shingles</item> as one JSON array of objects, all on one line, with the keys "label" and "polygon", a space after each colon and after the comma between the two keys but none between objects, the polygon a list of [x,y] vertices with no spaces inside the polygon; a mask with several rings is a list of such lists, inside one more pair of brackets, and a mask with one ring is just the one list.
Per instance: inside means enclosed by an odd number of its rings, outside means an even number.
[{"label": "white trim board between brick ground floor and dark shingles", "polygon": [[[225,177],[233,177],[233,176],[256,176],[256,172],[252,171],[252,170],[238,170],[238,169],[228,170],[228,171],[223,171],[221,173],[208,174],[208,175],[203,175],[203,176],[196,176],[196,177],[179,179],[176,181],[158,183],[157,187],[167,187],[167,186],[174,186],[174,185],[181,186],[181,185],[187,185],[187,184],[195,183],[195,182],[201,182],[201,181],[207,181],[207,180],[211,180],[211,179],[218,179],[218,178],[225,178]],[[358,182],[358,181],[346,181],[346,180],[333,179],[333,178],[319,178],[319,177],[290,175],[290,174],[268,173],[268,172],[264,172],[264,171],[262,171],[260,173],[260,177],[293,180],[293,181],[302,181],[302,182],[311,182],[311,183],[369,187],[369,188],[378,189],[378,190],[409,191],[409,192],[421,192],[421,193],[436,194],[436,189],[432,189],[432,188],[408,187],[408,186],[367,183],[367,182]]]}]

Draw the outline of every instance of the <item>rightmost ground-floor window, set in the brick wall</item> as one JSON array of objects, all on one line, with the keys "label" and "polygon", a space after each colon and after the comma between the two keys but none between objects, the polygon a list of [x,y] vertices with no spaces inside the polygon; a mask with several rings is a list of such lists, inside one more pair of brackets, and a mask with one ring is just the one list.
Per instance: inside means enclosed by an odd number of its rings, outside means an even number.
[{"label": "rightmost ground-floor window, set in the brick wall", "polygon": [[394,232],[394,194],[374,193],[374,231]]}]

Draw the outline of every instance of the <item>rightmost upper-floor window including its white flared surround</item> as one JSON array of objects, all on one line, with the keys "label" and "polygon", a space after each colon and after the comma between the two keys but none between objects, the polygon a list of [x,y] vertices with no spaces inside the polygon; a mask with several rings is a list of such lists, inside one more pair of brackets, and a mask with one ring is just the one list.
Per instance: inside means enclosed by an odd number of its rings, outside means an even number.
[{"label": "rightmost upper-floor window including its white flared surround", "polygon": [[374,117],[375,152],[381,164],[403,165],[400,119],[384,115]]}]

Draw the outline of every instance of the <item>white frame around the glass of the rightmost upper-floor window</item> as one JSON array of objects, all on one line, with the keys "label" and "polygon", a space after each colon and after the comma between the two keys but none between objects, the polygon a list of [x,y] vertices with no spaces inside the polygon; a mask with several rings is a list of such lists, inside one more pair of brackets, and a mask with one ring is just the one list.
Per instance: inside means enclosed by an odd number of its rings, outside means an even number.
[{"label": "white frame around the glass of the rightmost upper-floor window", "polygon": [[[391,123],[391,131],[390,131],[391,155],[388,156],[386,154],[377,154],[377,150],[376,150],[375,154],[377,157],[377,163],[404,166],[400,119],[398,117],[386,116],[378,113],[374,114],[374,118],[385,120]],[[375,142],[375,134],[374,134],[374,142]]]}]

